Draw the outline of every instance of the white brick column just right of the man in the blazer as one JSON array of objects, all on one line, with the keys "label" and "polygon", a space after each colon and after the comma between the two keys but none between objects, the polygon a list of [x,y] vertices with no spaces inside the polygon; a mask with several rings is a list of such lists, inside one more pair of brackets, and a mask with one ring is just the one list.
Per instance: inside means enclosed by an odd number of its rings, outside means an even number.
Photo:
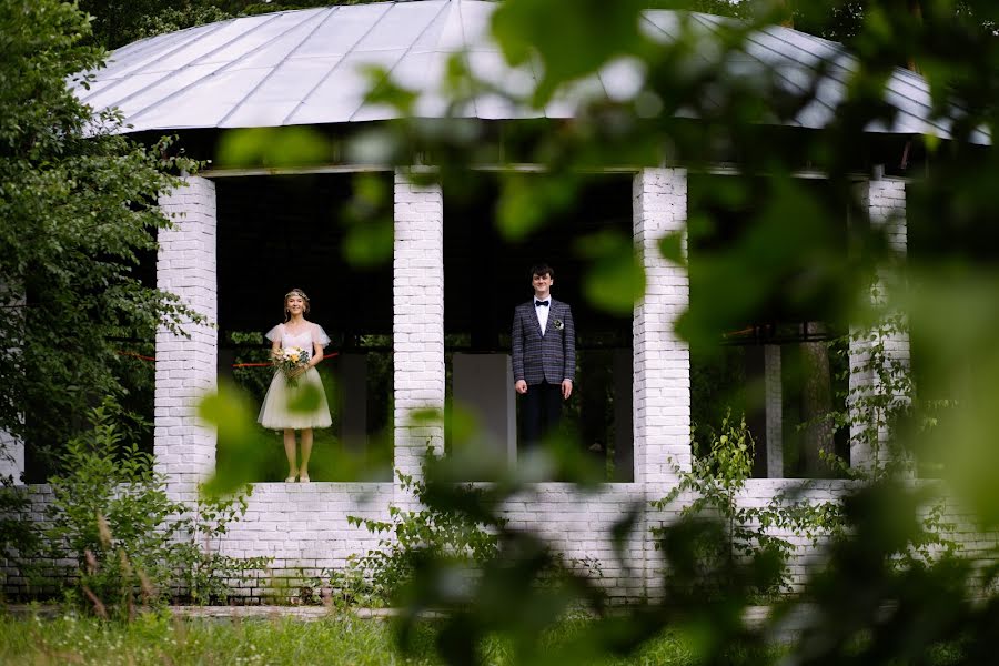
[{"label": "white brick column just right of the man in the blazer", "polygon": [[[648,281],[634,321],[635,481],[662,496],[690,468],[690,352],[673,331],[687,307],[687,271],[663,259],[657,243],[687,222],[687,173],[646,169],[634,181],[635,245]],[[686,240],[684,241],[686,251]],[[662,492],[662,495],[657,493]]]}]

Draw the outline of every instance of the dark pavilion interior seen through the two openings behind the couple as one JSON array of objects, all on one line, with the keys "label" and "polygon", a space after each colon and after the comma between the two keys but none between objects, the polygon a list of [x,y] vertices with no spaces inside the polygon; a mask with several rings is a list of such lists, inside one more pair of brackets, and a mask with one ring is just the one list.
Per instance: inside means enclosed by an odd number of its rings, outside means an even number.
[{"label": "dark pavilion interior seen through the two openings behind the couple", "polygon": [[[384,179],[383,191],[392,192],[392,173],[366,178]],[[281,321],[284,293],[293,286],[303,289],[312,305],[309,319],[333,341],[326,353],[334,356],[324,363],[326,373],[335,377],[329,382],[334,394],[329,443],[363,458],[361,466],[366,465],[372,477],[387,478],[393,266],[391,255],[373,266],[359,266],[345,258],[349,224],[344,220],[354,196],[354,178],[238,176],[219,178],[215,185],[220,375],[262,397],[265,369],[232,366],[265,359],[262,333]],[[444,188],[447,402],[453,394],[453,355],[507,354],[513,309],[532,295],[529,266],[548,262],[556,271],[553,294],[573,306],[577,331],[577,386],[565,410],[563,434],[576,440],[581,451],[606,470],[608,480],[629,481],[632,320],[601,312],[584,297],[585,263],[576,252],[576,240],[608,226],[630,236],[632,176],[594,176],[567,210],[516,243],[503,241],[496,232],[496,192],[495,174],[484,172]],[[391,220],[391,195],[379,215]],[[359,359],[363,359],[361,370]],[[365,385],[363,401],[359,382]],[[354,423],[349,424],[352,418]],[[317,433],[317,444],[322,441]],[[283,455],[278,448],[274,481]],[[316,455],[321,448],[316,447]],[[316,480],[340,477],[321,463],[313,475]]]}]

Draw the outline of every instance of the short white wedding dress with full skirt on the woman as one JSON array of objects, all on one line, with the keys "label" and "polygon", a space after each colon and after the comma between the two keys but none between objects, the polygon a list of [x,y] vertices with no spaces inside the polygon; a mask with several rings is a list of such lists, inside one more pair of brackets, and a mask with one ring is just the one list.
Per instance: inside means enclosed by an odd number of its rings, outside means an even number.
[{"label": "short white wedding dress with full skirt on the woman", "polygon": [[[326,335],[326,332],[322,326],[312,322],[309,322],[304,331],[294,335],[285,330],[284,324],[278,324],[268,331],[266,336],[271,342],[279,340],[282,347],[302,347],[310,356],[315,351],[314,342],[320,343],[321,346],[330,344],[330,336]],[[292,406],[299,405],[300,401],[310,392],[319,395],[319,404],[310,405],[307,410],[301,407],[293,410]],[[289,385],[284,373],[275,372],[256,421],[271,430],[330,427],[333,418],[330,416],[330,405],[326,403],[326,392],[323,390],[323,381],[319,376],[319,371],[310,367],[297,376],[295,386]]]}]

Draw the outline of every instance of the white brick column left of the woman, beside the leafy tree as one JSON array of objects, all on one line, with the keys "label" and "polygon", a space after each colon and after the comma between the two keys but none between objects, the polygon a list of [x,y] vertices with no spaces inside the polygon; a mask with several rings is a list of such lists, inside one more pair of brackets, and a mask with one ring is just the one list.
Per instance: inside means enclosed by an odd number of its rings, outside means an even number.
[{"label": "white brick column left of the woman, beside the leafy tree", "polygon": [[160,196],[173,228],[160,231],[157,286],[180,296],[212,324],[185,324],[190,337],[157,331],[157,471],[167,475],[174,500],[193,500],[198,483],[215,466],[215,432],[198,417],[201,397],[215,390],[219,365],[215,276],[215,185],[186,178],[186,186]]}]

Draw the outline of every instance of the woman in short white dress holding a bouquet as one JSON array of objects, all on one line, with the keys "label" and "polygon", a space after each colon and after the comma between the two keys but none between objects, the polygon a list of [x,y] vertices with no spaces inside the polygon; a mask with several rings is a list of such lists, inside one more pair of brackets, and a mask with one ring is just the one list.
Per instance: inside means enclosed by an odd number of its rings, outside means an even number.
[{"label": "woman in short white dress holding a bouquet", "polygon": [[[286,482],[295,478],[309,483],[309,456],[312,454],[312,428],[330,427],[330,406],[323,382],[315,366],[323,360],[323,347],[330,337],[322,326],[305,319],[309,296],[300,289],[284,295],[284,323],[268,331],[271,354],[282,347],[297,346],[305,350],[309,362],[287,375],[274,374],[271,386],[260,408],[258,421],[264,427],[284,431],[284,453],[287,456]],[[311,394],[311,395],[310,395]],[[314,396],[317,395],[316,400]],[[295,431],[302,432],[302,463],[296,462]]]}]

